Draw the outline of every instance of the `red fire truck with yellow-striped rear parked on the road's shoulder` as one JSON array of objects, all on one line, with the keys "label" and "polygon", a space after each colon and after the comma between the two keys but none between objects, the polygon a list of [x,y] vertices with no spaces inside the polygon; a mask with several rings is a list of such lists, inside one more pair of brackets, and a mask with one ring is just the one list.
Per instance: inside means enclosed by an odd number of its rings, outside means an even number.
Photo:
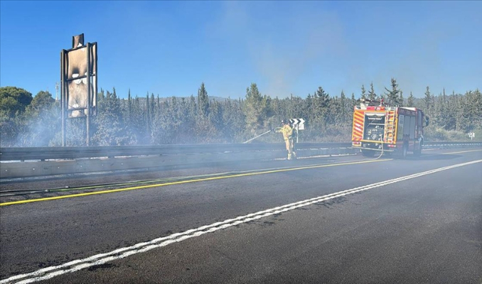
[{"label": "red fire truck with yellow-striped rear parked on the road's shoulder", "polygon": [[381,102],[364,100],[353,111],[353,148],[360,148],[365,156],[381,151],[386,154],[422,153],[424,126],[429,118],[422,109],[414,107],[387,107]]}]

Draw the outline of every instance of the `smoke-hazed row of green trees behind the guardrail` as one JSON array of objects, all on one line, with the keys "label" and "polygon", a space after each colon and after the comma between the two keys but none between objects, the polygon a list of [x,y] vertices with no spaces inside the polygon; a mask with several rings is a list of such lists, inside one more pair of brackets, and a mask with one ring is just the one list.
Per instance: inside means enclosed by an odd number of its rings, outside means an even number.
[{"label": "smoke-hazed row of green trees behind the guardrail", "polygon": [[[360,99],[383,99],[390,106],[419,107],[430,118],[426,129],[429,141],[467,141],[467,133],[482,136],[482,94],[476,89],[465,94],[435,95],[429,87],[423,98],[410,92],[404,98],[402,89],[392,78],[390,88],[375,93],[373,83],[368,91],[362,85]],[[191,143],[242,143],[279,126],[282,119],[305,119],[299,131],[304,142],[350,141],[353,107],[359,104],[355,94],[341,91],[328,94],[323,87],[306,98],[291,95],[272,98],[259,92],[257,84],[246,89],[245,98],[219,99],[208,96],[200,84],[197,96],[121,99],[116,89],[101,89],[97,94],[97,116],[90,126],[91,146],[159,145]],[[61,146],[60,102],[49,92],[32,96],[19,87],[0,88],[0,143],[2,147]],[[85,118],[68,119],[67,146],[86,145]],[[268,133],[252,143],[280,142],[281,136]]]}]

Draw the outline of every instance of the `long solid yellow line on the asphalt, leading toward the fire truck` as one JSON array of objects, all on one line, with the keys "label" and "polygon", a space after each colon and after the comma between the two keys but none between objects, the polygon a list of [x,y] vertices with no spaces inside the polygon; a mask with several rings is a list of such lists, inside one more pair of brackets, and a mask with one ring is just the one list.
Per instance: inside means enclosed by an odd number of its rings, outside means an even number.
[{"label": "long solid yellow line on the asphalt, leading toward the fire truck", "polygon": [[47,201],[47,200],[60,200],[63,198],[71,198],[71,197],[81,197],[81,196],[87,196],[87,195],[102,195],[104,193],[112,193],[112,192],[122,192],[122,191],[127,191],[127,190],[140,190],[144,188],[149,188],[149,187],[161,187],[161,186],[166,186],[166,185],[181,185],[184,183],[188,182],[202,182],[206,180],[220,180],[223,178],[238,178],[238,177],[245,177],[249,175],[263,175],[267,173],[282,173],[282,172],[288,172],[291,170],[306,170],[306,169],[312,169],[312,168],[326,168],[326,167],[333,167],[337,165],[356,165],[356,164],[362,164],[362,163],[375,163],[375,162],[383,162],[387,160],[393,160],[393,159],[382,159],[382,160],[363,160],[363,161],[358,161],[358,162],[348,162],[348,163],[334,163],[334,164],[328,164],[328,165],[309,165],[309,166],[304,166],[304,167],[299,167],[299,168],[284,168],[284,169],[279,169],[279,170],[267,170],[264,172],[257,172],[257,173],[242,173],[242,174],[237,174],[237,175],[225,175],[221,177],[213,177],[213,178],[200,178],[197,180],[181,180],[177,182],[166,182],[166,183],[160,183],[157,185],[141,185],[137,187],[127,187],[127,188],[119,188],[117,190],[102,190],[98,192],[85,192],[85,193],[77,193],[75,195],[63,195],[63,196],[55,196],[55,197],[45,197],[45,198],[38,198],[34,200],[19,200],[19,201],[12,201],[12,202],[4,202],[0,203],[0,206],[6,206],[6,205],[13,205],[13,204],[23,204],[23,203],[30,203],[30,202],[39,202],[39,201]]}]

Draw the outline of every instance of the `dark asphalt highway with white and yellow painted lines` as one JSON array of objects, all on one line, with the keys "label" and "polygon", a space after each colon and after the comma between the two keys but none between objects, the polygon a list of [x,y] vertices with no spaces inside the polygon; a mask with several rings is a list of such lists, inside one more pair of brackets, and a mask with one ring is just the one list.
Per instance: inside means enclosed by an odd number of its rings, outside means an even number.
[{"label": "dark asphalt highway with white and yellow painted lines", "polygon": [[482,283],[481,148],[1,187],[66,190],[0,198],[0,284]]}]

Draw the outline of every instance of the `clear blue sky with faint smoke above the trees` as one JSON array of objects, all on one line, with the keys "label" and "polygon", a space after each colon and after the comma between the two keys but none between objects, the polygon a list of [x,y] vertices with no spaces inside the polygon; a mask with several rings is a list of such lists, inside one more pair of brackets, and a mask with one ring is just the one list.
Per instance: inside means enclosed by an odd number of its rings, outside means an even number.
[{"label": "clear blue sky with faint smoke above the trees", "polygon": [[482,1],[1,1],[0,85],[55,97],[60,50],[97,42],[120,97],[407,97],[482,89]]}]

